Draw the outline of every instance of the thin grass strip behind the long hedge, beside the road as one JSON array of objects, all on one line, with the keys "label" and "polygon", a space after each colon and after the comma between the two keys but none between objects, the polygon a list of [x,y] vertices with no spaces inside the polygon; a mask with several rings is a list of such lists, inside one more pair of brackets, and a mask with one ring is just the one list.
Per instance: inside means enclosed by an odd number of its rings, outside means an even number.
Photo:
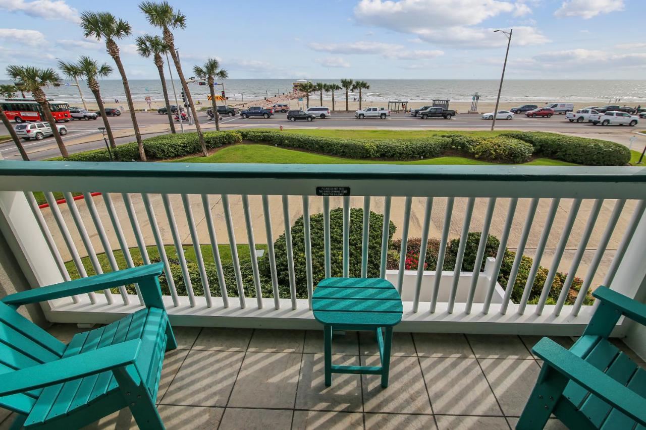
[{"label": "thin grass strip behind the long hedge, beside the road", "polygon": [[[321,121],[324,121],[322,119]],[[498,136],[501,133],[516,130],[500,131],[455,131],[455,130],[330,130],[330,129],[296,129],[284,130],[287,133],[309,134],[311,136],[324,136],[326,138],[348,138],[348,139],[415,139],[428,138],[430,135],[441,134],[468,134],[471,136],[481,136],[490,138]]]}]

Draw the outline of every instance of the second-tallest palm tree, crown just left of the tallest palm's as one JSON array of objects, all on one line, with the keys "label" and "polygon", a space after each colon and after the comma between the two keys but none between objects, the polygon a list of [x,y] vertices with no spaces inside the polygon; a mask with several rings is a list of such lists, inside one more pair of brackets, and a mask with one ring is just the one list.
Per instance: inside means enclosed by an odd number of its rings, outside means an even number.
[{"label": "second-tallest palm tree, crown just left of the tallest palm's", "polygon": [[97,40],[105,39],[105,48],[114,59],[117,65],[121,81],[123,81],[123,91],[125,98],[128,101],[128,108],[130,110],[130,119],[132,119],[132,127],[134,128],[134,136],[137,139],[137,146],[139,147],[139,158],[141,161],[146,161],[146,153],[143,150],[143,141],[141,141],[141,133],[139,132],[139,124],[134,115],[134,104],[132,103],[132,95],[130,94],[130,85],[128,84],[128,77],[125,76],[123,63],[119,55],[119,46],[114,39],[123,39],[132,34],[132,27],[128,21],[117,19],[109,12],[83,12],[81,14],[81,27],[83,28],[83,36],[96,37]]}]

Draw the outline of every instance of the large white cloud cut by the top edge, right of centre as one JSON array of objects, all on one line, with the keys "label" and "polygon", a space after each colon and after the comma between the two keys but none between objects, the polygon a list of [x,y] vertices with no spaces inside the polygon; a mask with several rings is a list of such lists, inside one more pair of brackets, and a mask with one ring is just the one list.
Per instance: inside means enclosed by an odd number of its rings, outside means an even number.
[{"label": "large white cloud cut by the top edge, right of centre", "polygon": [[[509,3],[499,0],[452,0],[438,3],[429,0],[361,0],[355,7],[357,22],[388,30],[413,34],[417,39],[435,45],[494,47],[506,45],[504,37],[495,37],[494,28],[477,26],[501,14],[520,17],[532,13],[525,1]],[[514,26],[514,44],[541,45],[549,40],[531,25]]]}]

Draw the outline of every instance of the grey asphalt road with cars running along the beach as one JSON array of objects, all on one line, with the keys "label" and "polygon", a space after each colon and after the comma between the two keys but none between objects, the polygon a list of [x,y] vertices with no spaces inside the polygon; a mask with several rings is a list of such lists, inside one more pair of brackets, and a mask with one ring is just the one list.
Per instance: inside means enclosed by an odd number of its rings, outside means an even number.
[{"label": "grey asphalt road with cars running along the beach", "polygon": [[[286,114],[276,114],[272,118],[241,118],[224,117],[220,124],[225,129],[243,128],[243,127],[265,127],[278,128],[281,125],[289,128],[396,128],[408,130],[423,129],[462,129],[462,130],[488,130],[491,127],[491,121],[482,119],[479,114],[459,114],[453,119],[421,119],[413,118],[410,114],[393,114],[386,119],[357,119],[352,113],[335,113],[331,118],[315,119],[314,121],[287,121]],[[151,112],[141,112],[137,114],[141,133],[144,137],[156,136],[160,133],[159,126],[167,124],[167,116],[158,115]],[[201,114],[200,123],[213,125],[207,116]],[[132,122],[129,115],[109,118],[113,130],[125,130],[132,128]],[[70,145],[68,152],[76,153],[85,150],[103,148],[105,143],[101,137],[98,127],[103,125],[101,119],[95,121],[74,120],[65,123],[68,128],[67,136],[63,136],[63,141],[73,141],[78,138],[87,136],[96,137],[93,141],[87,143],[78,143]],[[156,127],[155,127],[156,126]],[[179,123],[176,121],[176,128],[179,131]],[[646,121],[642,121],[637,127],[620,127],[594,126],[590,123],[570,123],[564,116],[556,115],[552,118],[526,118],[525,116],[516,116],[512,120],[498,119],[496,128],[499,130],[539,130],[539,131],[556,131],[556,132],[613,132],[628,133],[633,130],[645,130]],[[154,130],[154,132],[152,132]],[[148,131],[148,132],[147,132]],[[152,133],[151,133],[152,132]],[[0,135],[8,134],[5,127],[0,126]],[[133,141],[133,136],[117,138],[116,144],[121,145]],[[54,142],[54,138],[46,138],[41,141],[25,141],[23,143],[26,151],[32,159],[47,159],[59,156],[59,151]],[[16,146],[12,141],[0,144],[0,154],[4,159],[20,159]]]}]

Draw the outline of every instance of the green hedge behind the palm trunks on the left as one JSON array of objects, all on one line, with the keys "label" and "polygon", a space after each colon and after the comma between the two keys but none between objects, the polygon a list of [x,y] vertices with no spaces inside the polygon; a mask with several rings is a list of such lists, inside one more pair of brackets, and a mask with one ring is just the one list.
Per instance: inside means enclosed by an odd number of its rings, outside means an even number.
[{"label": "green hedge behind the palm trunks on the left", "polygon": [[[205,132],[204,141],[209,149],[220,148],[242,141],[242,136],[236,131]],[[162,134],[143,139],[143,150],[149,159],[168,159],[196,154],[202,150],[198,134]],[[119,145],[112,153],[119,161],[138,161],[139,149],[136,142]],[[59,160],[63,158],[57,158]],[[109,161],[106,149],[92,150],[72,154],[67,161]]]}]

